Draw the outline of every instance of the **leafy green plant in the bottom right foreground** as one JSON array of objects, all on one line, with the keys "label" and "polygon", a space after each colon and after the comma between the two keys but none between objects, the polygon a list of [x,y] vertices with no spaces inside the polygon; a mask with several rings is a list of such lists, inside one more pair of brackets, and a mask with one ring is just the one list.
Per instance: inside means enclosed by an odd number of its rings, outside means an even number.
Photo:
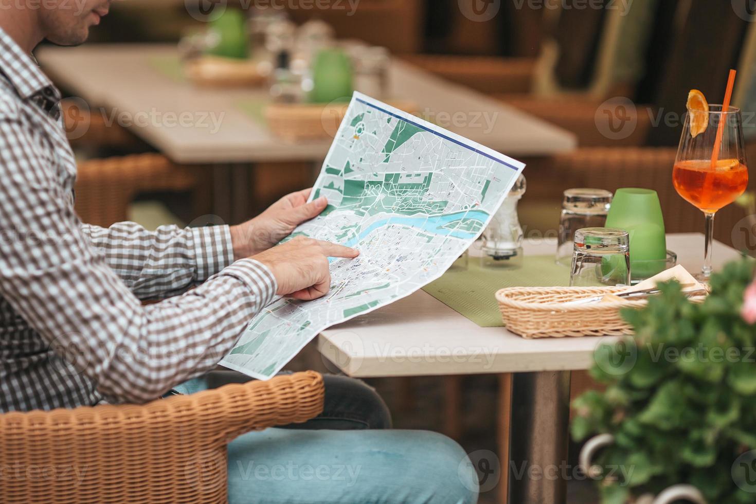
[{"label": "leafy green plant in the bottom right foreground", "polygon": [[651,496],[670,487],[692,502],[756,502],[753,276],[751,260],[727,264],[702,303],[662,285],[624,311],[633,338],[596,349],[590,373],[606,391],[575,400],[571,429],[576,441],[603,434],[584,462],[602,502],[662,502]]}]

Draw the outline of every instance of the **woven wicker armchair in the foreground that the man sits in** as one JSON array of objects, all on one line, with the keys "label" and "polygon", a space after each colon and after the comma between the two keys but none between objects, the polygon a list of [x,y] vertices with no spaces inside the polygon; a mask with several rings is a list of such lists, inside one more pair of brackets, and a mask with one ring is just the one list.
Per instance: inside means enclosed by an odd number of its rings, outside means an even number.
[{"label": "woven wicker armchair in the foreground that the man sits in", "polygon": [[0,502],[227,502],[229,441],[323,410],[308,371],[149,404],[0,415]]}]

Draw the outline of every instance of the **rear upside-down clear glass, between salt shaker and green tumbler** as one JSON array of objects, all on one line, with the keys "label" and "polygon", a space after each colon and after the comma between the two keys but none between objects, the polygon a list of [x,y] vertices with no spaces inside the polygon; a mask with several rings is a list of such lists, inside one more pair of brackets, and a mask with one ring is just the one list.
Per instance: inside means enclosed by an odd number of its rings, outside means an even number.
[{"label": "rear upside-down clear glass, between salt shaker and green tumbler", "polygon": [[559,243],[556,263],[569,266],[572,261],[572,237],[582,227],[601,227],[612,204],[612,193],[603,189],[568,189],[562,200],[559,218]]}]

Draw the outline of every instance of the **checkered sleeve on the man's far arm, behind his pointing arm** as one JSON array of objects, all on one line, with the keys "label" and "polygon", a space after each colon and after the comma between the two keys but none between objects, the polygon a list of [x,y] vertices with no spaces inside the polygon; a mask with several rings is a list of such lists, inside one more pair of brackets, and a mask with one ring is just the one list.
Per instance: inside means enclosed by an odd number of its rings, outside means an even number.
[{"label": "checkered sleeve on the man's far arm, behind his pointing arm", "polygon": [[234,261],[228,226],[148,231],[135,222],[119,222],[107,228],[82,224],[81,229],[140,299],[183,292]]}]

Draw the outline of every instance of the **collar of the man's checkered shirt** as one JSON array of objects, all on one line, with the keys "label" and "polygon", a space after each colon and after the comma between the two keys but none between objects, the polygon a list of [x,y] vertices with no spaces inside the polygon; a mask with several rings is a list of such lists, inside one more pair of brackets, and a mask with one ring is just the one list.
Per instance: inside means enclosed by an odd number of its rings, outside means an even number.
[{"label": "collar of the man's checkered shirt", "polygon": [[[58,94],[50,79],[37,66],[36,60],[23,50],[0,28],[0,71],[23,99],[45,89]],[[60,98],[58,98],[60,99]]]}]

